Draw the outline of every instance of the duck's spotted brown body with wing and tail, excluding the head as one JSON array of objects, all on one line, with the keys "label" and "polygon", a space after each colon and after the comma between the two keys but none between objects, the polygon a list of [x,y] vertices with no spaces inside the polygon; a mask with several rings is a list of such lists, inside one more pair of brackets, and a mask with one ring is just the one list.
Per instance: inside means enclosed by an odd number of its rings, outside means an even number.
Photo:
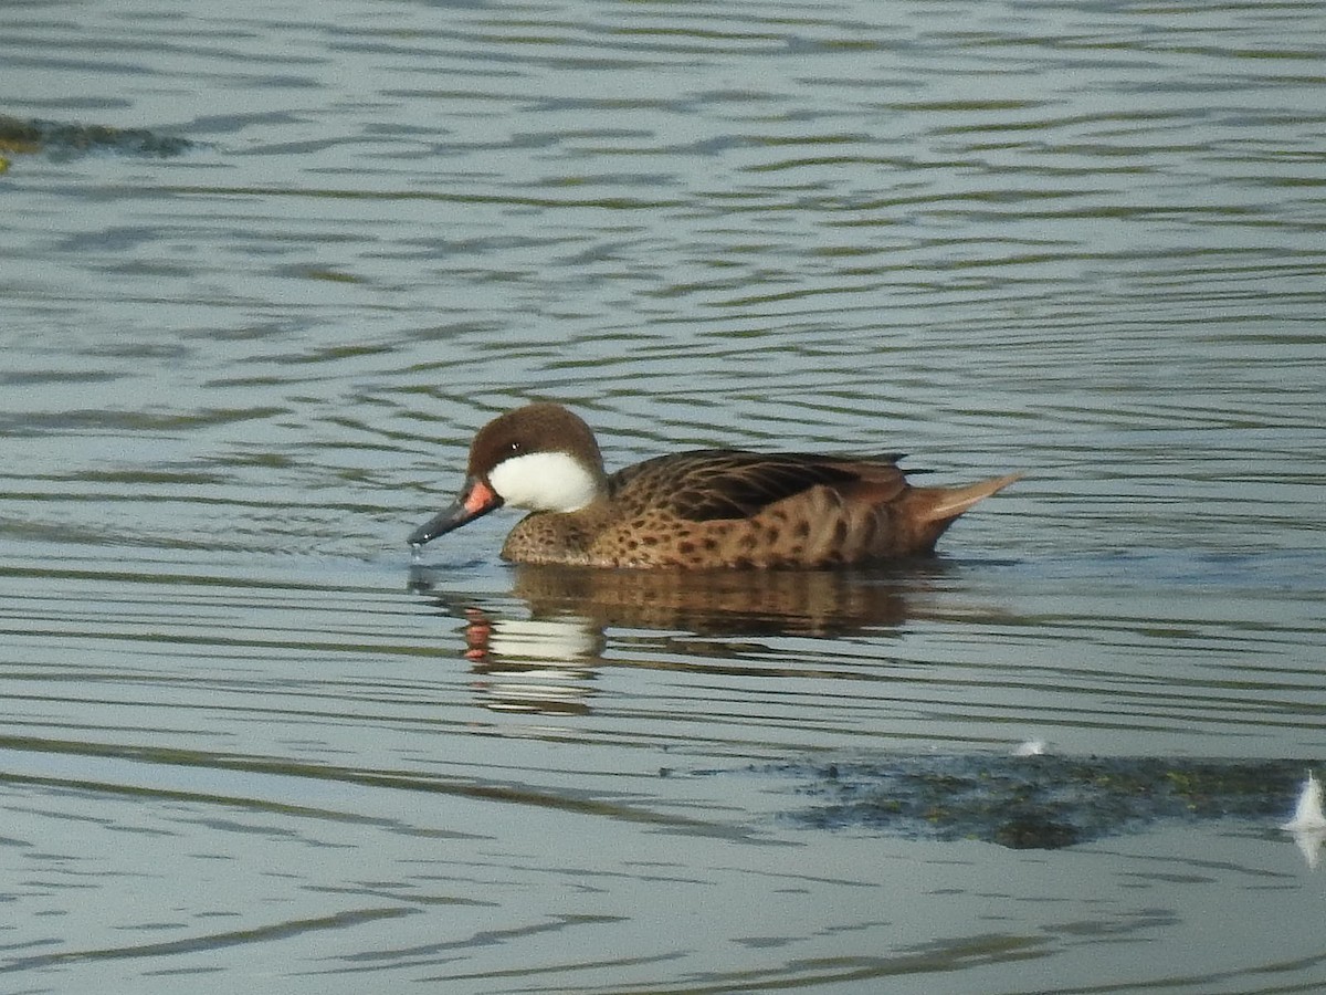
[{"label": "duck's spotted brown body with wing and tail, excluding the head", "polygon": [[503,553],[525,563],[822,568],[931,552],[963,511],[1013,478],[907,484],[898,456],[697,450],[609,478],[605,500],[530,515]]}]

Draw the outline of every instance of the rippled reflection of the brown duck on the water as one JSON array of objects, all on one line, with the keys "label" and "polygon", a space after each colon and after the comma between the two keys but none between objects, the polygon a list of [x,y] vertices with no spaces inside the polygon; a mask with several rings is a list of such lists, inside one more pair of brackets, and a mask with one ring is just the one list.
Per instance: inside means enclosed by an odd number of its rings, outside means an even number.
[{"label": "rippled reflection of the brown duck on the water", "polygon": [[[511,594],[467,593],[415,566],[410,586],[448,620],[484,707],[583,712],[615,667],[806,677],[818,654],[780,662],[764,639],[888,630],[944,617],[931,601],[943,565],[865,570],[583,570],[520,564]],[[965,609],[969,612],[969,609]],[[611,653],[609,653],[611,647]]]}]

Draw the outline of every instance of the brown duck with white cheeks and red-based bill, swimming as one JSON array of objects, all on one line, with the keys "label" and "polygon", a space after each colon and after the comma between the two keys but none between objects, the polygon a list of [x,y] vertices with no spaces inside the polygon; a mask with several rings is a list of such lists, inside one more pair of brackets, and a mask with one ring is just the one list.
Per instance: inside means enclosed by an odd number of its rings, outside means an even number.
[{"label": "brown duck with white cheeks and red-based bill, swimming", "polygon": [[614,474],[594,431],[557,403],[525,405],[475,435],[452,504],[410,533],[426,543],[501,507],[517,564],[635,569],[830,569],[932,553],[972,505],[1020,478],[914,487],[902,454],[692,450]]}]

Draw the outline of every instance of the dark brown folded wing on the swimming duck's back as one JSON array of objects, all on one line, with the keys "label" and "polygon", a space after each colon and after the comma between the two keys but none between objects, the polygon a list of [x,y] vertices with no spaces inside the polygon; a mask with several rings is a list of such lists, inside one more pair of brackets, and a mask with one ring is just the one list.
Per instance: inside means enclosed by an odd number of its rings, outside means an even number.
[{"label": "dark brown folded wing on the swimming duck's back", "polygon": [[691,521],[745,519],[813,487],[866,490],[876,500],[902,492],[906,482],[898,459],[696,450],[627,467],[613,475],[609,487],[623,505],[640,501]]}]

